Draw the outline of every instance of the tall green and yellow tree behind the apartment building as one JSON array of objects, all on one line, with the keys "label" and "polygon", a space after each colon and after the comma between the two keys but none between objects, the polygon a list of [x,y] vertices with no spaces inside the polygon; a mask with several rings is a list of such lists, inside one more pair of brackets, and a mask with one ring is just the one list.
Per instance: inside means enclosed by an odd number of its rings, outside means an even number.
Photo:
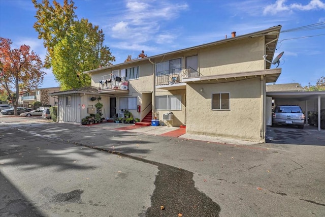
[{"label": "tall green and yellow tree behind the apartment building", "polygon": [[54,7],[48,0],[32,2],[38,19],[34,27],[47,48],[46,66],[52,67],[61,89],[90,86],[90,77],[82,72],[109,66],[115,61],[110,49],[104,46],[103,30],[87,19],[75,20],[73,1],[69,4],[65,0],[61,6],[54,0]]}]

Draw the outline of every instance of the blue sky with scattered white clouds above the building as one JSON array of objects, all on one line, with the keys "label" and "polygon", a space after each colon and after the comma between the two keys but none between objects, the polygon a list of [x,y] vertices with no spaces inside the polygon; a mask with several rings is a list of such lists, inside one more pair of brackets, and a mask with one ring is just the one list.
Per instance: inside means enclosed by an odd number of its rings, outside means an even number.
[{"label": "blue sky with scattered white clouds above the building", "polygon": [[[41,0],[39,0],[40,2]],[[50,0],[52,2],[52,0]],[[61,3],[63,1],[58,0]],[[315,84],[325,76],[324,0],[75,0],[78,19],[87,18],[105,33],[105,45],[123,63],[127,55],[148,56],[282,25],[282,31],[312,24],[306,30],[280,34],[275,55],[284,51],[280,83]],[[29,45],[42,59],[43,41],[32,27],[36,9],[31,0],[0,0],[0,37],[12,48]],[[261,56],[262,58],[262,56]],[[275,68],[276,65],[272,65]],[[45,70],[40,87],[58,86],[51,70]]]}]

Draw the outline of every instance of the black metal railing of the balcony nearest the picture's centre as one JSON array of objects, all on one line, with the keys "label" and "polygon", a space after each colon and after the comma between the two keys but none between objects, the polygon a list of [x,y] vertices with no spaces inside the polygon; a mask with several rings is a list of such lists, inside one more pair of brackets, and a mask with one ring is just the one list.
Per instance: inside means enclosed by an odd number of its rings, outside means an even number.
[{"label": "black metal railing of the balcony nearest the picture's centre", "polygon": [[181,83],[184,78],[194,77],[200,77],[200,73],[190,67],[160,71],[156,73],[156,85]]}]

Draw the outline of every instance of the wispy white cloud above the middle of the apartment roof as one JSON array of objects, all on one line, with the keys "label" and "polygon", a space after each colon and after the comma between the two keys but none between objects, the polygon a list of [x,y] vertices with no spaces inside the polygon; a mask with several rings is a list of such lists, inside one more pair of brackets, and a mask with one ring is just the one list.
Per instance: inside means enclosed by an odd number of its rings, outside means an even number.
[{"label": "wispy white cloud above the middle of the apartment roof", "polygon": [[177,18],[179,12],[187,8],[187,4],[167,1],[127,1],[125,10],[111,19],[115,22],[109,26],[108,35],[120,41],[127,40],[128,49],[138,46],[144,49],[143,45],[149,41],[170,43],[174,36],[159,34],[161,25],[168,25],[169,20]]}]

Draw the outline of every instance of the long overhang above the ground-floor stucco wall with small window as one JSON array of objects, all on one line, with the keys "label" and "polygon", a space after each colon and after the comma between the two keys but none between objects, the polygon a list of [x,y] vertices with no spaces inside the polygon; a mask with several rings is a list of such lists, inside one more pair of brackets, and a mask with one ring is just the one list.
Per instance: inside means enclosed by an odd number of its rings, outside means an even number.
[{"label": "long overhang above the ground-floor stucco wall with small window", "polygon": [[233,81],[239,81],[239,80],[264,76],[266,83],[274,83],[277,81],[280,74],[281,74],[281,68],[250,71],[250,72],[230,73],[230,74],[222,74],[222,75],[201,76],[196,78],[183,78],[182,81],[185,83],[192,83],[192,84],[193,83],[209,84],[209,83],[233,82]]}]

